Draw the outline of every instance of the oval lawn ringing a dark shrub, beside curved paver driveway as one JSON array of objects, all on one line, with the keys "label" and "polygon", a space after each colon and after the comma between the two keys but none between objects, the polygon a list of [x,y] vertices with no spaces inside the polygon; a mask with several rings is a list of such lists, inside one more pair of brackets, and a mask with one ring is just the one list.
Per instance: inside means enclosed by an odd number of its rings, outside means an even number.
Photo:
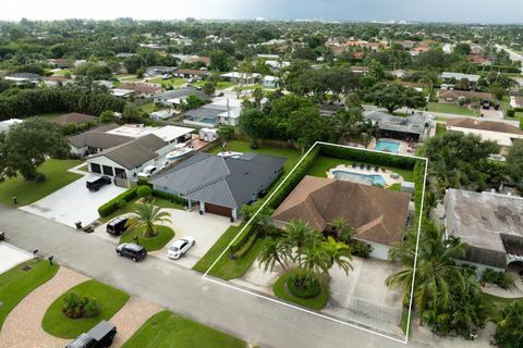
[{"label": "oval lawn ringing a dark shrub, beside curved paver driveway", "polygon": [[[96,318],[70,319],[62,313],[63,299],[69,293],[78,296],[94,297],[100,306],[100,314]],[[84,282],[69,289],[52,302],[47,309],[41,327],[50,335],[61,338],[75,338],[89,331],[100,320],[109,320],[125,302],[129,295],[95,279]]]}]

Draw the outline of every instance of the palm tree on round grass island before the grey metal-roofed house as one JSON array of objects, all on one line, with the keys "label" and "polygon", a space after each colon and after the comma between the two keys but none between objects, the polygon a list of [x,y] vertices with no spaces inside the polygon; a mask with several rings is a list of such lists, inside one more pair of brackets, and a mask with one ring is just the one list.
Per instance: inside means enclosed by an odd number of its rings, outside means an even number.
[{"label": "palm tree on round grass island before the grey metal-roofed house", "polygon": [[156,207],[155,202],[135,204],[133,208],[133,215],[127,221],[127,227],[141,228],[144,237],[154,237],[157,235],[157,224],[171,222],[169,219],[171,214],[167,211],[161,211],[161,208]]}]

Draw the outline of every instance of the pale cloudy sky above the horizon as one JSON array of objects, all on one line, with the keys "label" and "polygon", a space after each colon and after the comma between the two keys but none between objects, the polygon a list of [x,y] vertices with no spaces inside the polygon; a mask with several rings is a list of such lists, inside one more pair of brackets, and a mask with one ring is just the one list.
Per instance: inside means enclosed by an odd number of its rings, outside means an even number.
[{"label": "pale cloudy sky above the horizon", "polygon": [[221,18],[523,23],[522,0],[3,0],[0,20]]}]

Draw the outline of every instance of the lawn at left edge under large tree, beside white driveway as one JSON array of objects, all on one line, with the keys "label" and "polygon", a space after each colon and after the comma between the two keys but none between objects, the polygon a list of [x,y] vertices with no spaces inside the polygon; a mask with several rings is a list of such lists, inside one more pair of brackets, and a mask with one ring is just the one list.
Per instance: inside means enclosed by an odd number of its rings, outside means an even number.
[{"label": "lawn at left edge under large tree, beside white driveway", "polygon": [[0,203],[12,204],[12,197],[16,196],[20,206],[27,206],[54,192],[59,188],[82,177],[80,174],[68,172],[70,167],[81,164],[80,160],[47,160],[38,167],[38,172],[46,175],[44,183],[25,182],[20,175],[8,178],[0,184]]}]

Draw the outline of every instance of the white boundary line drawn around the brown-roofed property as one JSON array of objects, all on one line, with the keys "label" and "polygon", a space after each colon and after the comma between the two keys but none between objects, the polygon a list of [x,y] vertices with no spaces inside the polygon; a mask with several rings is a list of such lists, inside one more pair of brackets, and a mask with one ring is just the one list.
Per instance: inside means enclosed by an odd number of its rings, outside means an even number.
[{"label": "white boundary line drawn around the brown-roofed property", "polygon": [[[386,335],[386,334],[382,334],[382,333],[379,333],[379,332],[376,332],[376,331],[373,331],[373,330],[368,330],[366,327],[363,327],[361,325],[356,325],[356,324],[353,324],[353,323],[350,323],[350,322],[345,322],[345,321],[342,321],[342,320],[339,320],[339,319],[336,319],[336,318],[332,318],[332,316],[329,316],[329,315],[326,315],[326,314],[321,314],[321,313],[318,313],[318,312],[314,312],[314,311],[311,311],[311,310],[307,310],[303,307],[299,307],[299,306],[294,306],[294,304],[291,304],[289,302],[284,302],[284,301],[281,301],[281,300],[278,300],[273,297],[269,297],[269,296],[265,296],[265,295],[260,295],[260,294],[257,294],[257,293],[254,293],[254,291],[250,291],[250,290],[246,290],[244,288],[241,288],[241,287],[238,287],[238,286],[234,286],[234,285],[231,285],[231,283],[227,282],[227,281],[221,281],[221,279],[215,279],[215,278],[210,278],[207,276],[207,274],[210,272],[210,270],[212,270],[212,268],[216,265],[216,263],[218,263],[218,261],[226,254],[226,252],[229,250],[229,248],[234,244],[234,241],[238,239],[238,237],[240,237],[240,235],[245,231],[245,228],[254,221],[254,219],[256,217],[256,215],[265,208],[265,206],[270,201],[270,199],[272,198],[272,196],[276,195],[276,192],[281,188],[281,186],[288,181],[288,178],[292,175],[292,173],[294,173],[294,171],[296,170],[296,167],[303,162],[303,160],[311,153],[311,151],[317,146],[317,145],[326,145],[326,146],[335,146],[335,147],[340,147],[340,148],[349,148],[349,149],[354,149],[354,150],[360,150],[360,151],[367,151],[367,152],[378,152],[378,153],[384,153],[382,151],[376,151],[376,150],[369,150],[369,149],[361,149],[361,148],[357,148],[357,147],[352,147],[352,146],[345,146],[345,145],[338,145],[338,144],[330,144],[330,142],[324,142],[324,141],[316,141],[312,147],[311,149],[308,149],[308,151],[302,156],[302,158],[300,159],[300,161],[297,161],[297,163],[294,165],[294,167],[289,172],[289,174],[287,174],[285,178],[278,185],[278,187],[272,191],[272,194],[269,195],[269,197],[267,197],[267,199],[264,201],[264,203],[262,204],[262,207],[259,207],[259,209],[254,213],[253,216],[251,216],[251,220],[248,220],[248,222],[245,224],[245,226],[243,226],[243,228],[236,234],[236,236],[231,240],[231,243],[227,246],[227,248],[223,249],[223,251],[218,256],[218,258],[216,259],[215,262],[212,262],[212,264],[209,266],[209,269],[204,273],[204,275],[202,276],[202,278],[206,279],[206,281],[209,281],[209,282],[212,282],[212,283],[216,283],[216,284],[219,284],[221,286],[224,286],[224,287],[228,287],[228,288],[231,288],[231,289],[235,289],[240,293],[244,293],[244,294],[250,294],[250,295],[253,295],[255,297],[258,297],[258,298],[264,298],[268,301],[271,301],[271,302],[275,302],[275,303],[279,303],[279,304],[282,304],[282,306],[285,306],[285,307],[289,307],[289,308],[293,308],[295,310],[299,310],[299,311],[302,311],[302,312],[305,312],[305,313],[309,313],[312,315],[316,315],[316,316],[319,316],[319,318],[323,318],[323,319],[326,319],[326,320],[330,320],[332,322],[336,322],[338,324],[342,324],[342,325],[345,325],[345,326],[350,326],[350,327],[353,327],[353,328],[357,328],[357,330],[361,330],[361,331],[364,331],[366,333],[369,333],[369,334],[373,334],[373,335],[376,335],[376,336],[380,336],[380,337],[384,337],[384,338],[388,338],[388,339],[391,339],[391,340],[394,340],[394,341],[398,341],[398,343],[401,343],[401,344],[404,344],[406,345],[409,343],[409,332],[410,332],[410,328],[411,328],[411,314],[412,314],[412,301],[413,301],[413,296],[414,296],[414,282],[415,282],[415,277],[416,277],[416,272],[414,271],[413,275],[412,275],[412,287],[411,287],[411,297],[410,297],[410,302],[409,302],[409,315],[408,315],[408,322],[406,322],[406,333],[405,333],[405,338],[404,339],[399,339],[397,337],[393,337],[393,336],[390,336],[390,335]],[[425,199],[425,183],[427,181],[427,169],[428,169],[428,159],[427,158],[423,158],[423,157],[416,157],[416,156],[408,156],[408,154],[401,154],[401,153],[388,153],[390,156],[399,156],[399,157],[405,157],[405,158],[411,158],[411,159],[416,159],[416,160],[423,160],[425,161],[425,175],[424,175],[424,181],[423,181],[423,194],[422,194],[422,202],[421,202],[421,207],[422,207],[422,211],[423,211],[423,203],[424,203],[424,199]],[[418,250],[418,247],[419,247],[419,232],[421,232],[421,228],[422,228],[422,212],[419,213],[419,221],[418,221],[418,227],[417,227],[417,236],[416,236],[416,252],[415,252],[415,256],[414,256],[414,270],[416,270],[416,266],[417,266],[417,250]]]}]

